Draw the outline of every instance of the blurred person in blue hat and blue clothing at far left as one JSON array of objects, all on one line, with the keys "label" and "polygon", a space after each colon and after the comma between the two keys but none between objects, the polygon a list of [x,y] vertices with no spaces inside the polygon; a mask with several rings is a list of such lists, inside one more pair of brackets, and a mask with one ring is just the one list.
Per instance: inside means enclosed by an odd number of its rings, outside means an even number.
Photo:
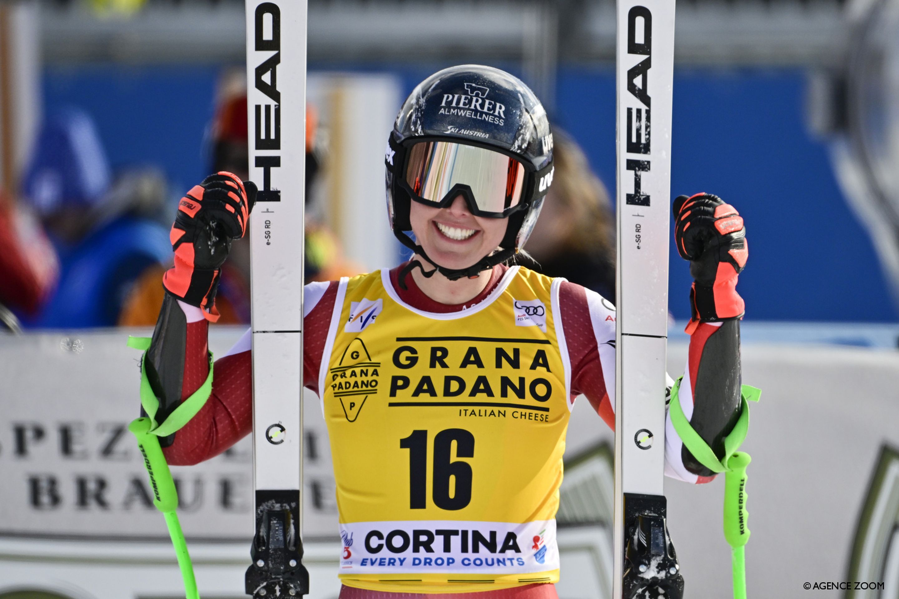
[{"label": "blurred person in blue hat and blue clothing at far left", "polygon": [[23,181],[23,200],[40,215],[61,269],[56,292],[22,322],[114,325],[135,279],[171,256],[168,231],[154,219],[165,205],[165,180],[129,172],[111,185],[93,119],[69,108],[44,122]]}]

